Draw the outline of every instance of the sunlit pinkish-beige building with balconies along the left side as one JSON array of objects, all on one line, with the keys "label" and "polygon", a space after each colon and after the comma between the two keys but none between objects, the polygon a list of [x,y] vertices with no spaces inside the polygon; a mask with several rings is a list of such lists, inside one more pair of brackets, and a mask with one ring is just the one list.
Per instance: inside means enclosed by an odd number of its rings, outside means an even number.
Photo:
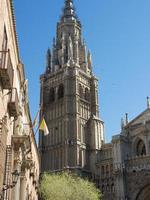
[{"label": "sunlit pinkish-beige building with balconies along the left side", "polygon": [[[18,176],[16,184],[13,173]],[[13,5],[11,0],[0,0],[0,199],[37,200],[38,177],[38,150]]]}]

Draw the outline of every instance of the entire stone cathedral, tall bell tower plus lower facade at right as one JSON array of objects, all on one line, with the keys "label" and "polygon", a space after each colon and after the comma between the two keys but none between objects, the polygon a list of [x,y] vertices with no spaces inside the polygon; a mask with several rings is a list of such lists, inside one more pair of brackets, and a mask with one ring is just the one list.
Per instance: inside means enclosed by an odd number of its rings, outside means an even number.
[{"label": "entire stone cathedral, tall bell tower plus lower facade at right", "polygon": [[122,124],[112,142],[104,141],[99,118],[98,81],[82,39],[72,0],[57,24],[41,75],[41,171],[75,170],[89,176],[104,200],[148,200],[150,196],[150,108]]}]

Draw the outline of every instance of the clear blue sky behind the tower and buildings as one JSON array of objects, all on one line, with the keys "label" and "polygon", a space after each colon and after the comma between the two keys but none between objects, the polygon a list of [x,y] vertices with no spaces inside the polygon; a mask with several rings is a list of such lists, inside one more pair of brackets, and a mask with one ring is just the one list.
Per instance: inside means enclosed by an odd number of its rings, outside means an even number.
[{"label": "clear blue sky behind the tower and buildings", "polygon": [[[18,40],[29,80],[32,118],[39,106],[39,76],[51,47],[64,0],[14,0]],[[106,141],[146,109],[150,96],[150,1],[74,0],[83,36],[99,78],[101,118]]]}]

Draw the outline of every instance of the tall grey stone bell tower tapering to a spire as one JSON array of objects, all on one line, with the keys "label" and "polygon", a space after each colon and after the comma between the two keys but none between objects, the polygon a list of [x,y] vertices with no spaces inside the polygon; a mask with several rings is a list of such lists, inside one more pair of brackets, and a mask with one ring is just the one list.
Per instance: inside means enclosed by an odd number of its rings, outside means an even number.
[{"label": "tall grey stone bell tower tapering to a spire", "polygon": [[41,75],[41,117],[49,134],[39,134],[41,171],[90,173],[104,142],[99,119],[98,80],[82,39],[73,0],[66,0],[52,50]]}]

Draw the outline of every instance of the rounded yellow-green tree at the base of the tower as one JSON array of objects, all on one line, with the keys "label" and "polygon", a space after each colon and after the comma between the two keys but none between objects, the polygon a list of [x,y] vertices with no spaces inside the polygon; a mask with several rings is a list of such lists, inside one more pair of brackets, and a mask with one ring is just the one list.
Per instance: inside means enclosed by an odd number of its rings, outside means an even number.
[{"label": "rounded yellow-green tree at the base of the tower", "polygon": [[68,173],[45,173],[39,193],[42,200],[100,200],[101,197],[93,183]]}]

